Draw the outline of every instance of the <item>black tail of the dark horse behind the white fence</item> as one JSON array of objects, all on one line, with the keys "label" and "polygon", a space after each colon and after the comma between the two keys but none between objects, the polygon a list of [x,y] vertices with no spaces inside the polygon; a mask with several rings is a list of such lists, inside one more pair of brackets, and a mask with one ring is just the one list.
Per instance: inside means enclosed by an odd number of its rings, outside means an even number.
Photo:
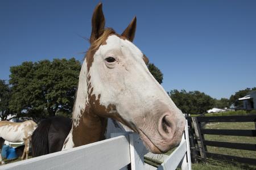
[{"label": "black tail of the dark horse behind the white fence", "polygon": [[31,148],[32,156],[41,156],[49,154],[48,147],[48,131],[51,126],[51,120],[45,119],[42,120],[38,128],[36,128],[31,137]]}]

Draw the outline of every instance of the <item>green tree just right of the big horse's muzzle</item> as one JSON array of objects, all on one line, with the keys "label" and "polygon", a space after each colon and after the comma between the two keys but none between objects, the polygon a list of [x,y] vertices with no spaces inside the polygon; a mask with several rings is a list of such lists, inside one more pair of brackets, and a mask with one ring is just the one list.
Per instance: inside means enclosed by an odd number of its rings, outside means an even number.
[{"label": "green tree just right of the big horse's muzzle", "polygon": [[168,94],[183,113],[203,114],[214,106],[214,99],[200,91],[171,90]]}]

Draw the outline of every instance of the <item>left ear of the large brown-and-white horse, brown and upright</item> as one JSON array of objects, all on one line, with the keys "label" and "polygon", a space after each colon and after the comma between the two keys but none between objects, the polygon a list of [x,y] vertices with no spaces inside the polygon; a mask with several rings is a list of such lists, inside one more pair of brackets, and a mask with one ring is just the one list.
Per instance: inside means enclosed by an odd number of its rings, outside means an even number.
[{"label": "left ear of the large brown-and-white horse, brown and upright", "polygon": [[105,18],[102,11],[102,3],[98,3],[92,16],[92,33],[90,35],[90,44],[98,39],[104,32]]}]

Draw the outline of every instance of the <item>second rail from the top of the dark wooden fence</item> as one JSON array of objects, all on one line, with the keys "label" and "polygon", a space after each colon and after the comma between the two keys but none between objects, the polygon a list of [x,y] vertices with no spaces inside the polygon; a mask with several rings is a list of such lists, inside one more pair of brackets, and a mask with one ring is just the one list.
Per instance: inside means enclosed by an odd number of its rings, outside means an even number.
[{"label": "second rail from the top of the dark wooden fence", "polygon": [[256,130],[201,129],[202,134],[256,137]]}]

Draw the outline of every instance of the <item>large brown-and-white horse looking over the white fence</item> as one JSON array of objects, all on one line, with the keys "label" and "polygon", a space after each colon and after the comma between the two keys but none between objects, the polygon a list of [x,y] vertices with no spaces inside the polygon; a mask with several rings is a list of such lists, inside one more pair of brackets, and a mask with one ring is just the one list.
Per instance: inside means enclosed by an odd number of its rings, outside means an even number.
[{"label": "large brown-and-white horse looking over the white fence", "polygon": [[108,118],[137,132],[147,149],[160,154],[181,141],[185,117],[147,68],[133,44],[136,17],[121,35],[105,28],[102,4],[94,9],[90,48],[82,63],[63,150],[101,141]]}]

